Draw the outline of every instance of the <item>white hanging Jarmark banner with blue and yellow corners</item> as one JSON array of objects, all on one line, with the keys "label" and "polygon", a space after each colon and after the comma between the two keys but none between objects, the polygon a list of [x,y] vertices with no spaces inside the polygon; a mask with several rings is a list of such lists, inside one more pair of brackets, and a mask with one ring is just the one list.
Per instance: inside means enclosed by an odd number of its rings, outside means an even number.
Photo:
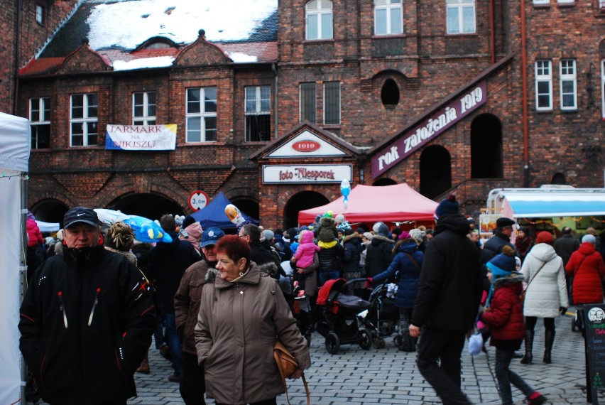
[{"label": "white hanging Jarmark banner with blue and yellow corners", "polygon": [[174,151],[176,124],[107,125],[105,149],[114,151]]}]

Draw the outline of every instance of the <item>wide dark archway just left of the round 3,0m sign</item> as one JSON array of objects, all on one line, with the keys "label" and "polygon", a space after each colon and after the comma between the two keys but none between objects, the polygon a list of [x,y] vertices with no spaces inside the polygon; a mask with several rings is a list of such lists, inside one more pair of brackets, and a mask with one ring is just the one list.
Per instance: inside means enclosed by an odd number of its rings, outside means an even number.
[{"label": "wide dark archway just left of the round 3,0m sign", "polygon": [[107,208],[120,210],[128,215],[139,215],[150,220],[159,220],[164,214],[185,214],[182,207],[173,200],[163,195],[150,193],[122,195],[107,205]]}]

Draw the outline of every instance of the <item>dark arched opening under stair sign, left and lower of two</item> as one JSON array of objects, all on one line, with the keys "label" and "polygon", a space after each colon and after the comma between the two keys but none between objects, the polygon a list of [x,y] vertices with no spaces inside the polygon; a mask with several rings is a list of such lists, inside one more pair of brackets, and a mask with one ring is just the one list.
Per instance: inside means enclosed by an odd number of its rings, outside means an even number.
[{"label": "dark arched opening under stair sign, left and lower of two", "polygon": [[452,163],[443,146],[429,146],[420,155],[420,194],[431,200],[452,188]]}]

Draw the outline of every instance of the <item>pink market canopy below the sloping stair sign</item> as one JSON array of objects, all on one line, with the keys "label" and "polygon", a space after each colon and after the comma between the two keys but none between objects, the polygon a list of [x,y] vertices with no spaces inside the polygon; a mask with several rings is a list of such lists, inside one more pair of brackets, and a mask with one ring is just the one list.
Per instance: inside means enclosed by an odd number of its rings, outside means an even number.
[{"label": "pink market canopy below the sloping stair sign", "polygon": [[437,202],[416,193],[409,185],[384,186],[356,185],[349,193],[347,210],[341,195],[336,200],[321,207],[298,212],[298,223],[310,224],[315,216],[324,215],[329,210],[334,216],[343,214],[347,221],[356,222],[403,222],[432,221]]}]

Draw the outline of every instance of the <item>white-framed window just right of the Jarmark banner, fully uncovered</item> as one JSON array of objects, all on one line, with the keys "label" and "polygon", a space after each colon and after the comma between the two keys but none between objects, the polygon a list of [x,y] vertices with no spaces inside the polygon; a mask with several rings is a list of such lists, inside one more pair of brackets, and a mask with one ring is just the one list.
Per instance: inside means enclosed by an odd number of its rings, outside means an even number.
[{"label": "white-framed window just right of the Jarmark banner, fully uncovered", "polygon": [[187,89],[187,142],[217,140],[217,87]]}]

